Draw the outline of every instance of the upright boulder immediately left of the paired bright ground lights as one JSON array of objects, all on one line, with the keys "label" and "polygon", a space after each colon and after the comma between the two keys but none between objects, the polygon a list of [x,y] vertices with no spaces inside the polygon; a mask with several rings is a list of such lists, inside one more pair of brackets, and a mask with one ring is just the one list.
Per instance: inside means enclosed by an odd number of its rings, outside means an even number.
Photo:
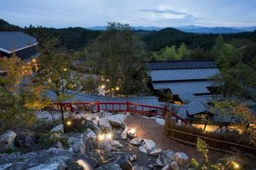
[{"label": "upright boulder immediately left of the paired bright ground lights", "polygon": [[91,151],[91,149],[96,148],[96,134],[93,133],[93,130],[91,130],[90,128],[84,131],[82,139],[88,151]]}]

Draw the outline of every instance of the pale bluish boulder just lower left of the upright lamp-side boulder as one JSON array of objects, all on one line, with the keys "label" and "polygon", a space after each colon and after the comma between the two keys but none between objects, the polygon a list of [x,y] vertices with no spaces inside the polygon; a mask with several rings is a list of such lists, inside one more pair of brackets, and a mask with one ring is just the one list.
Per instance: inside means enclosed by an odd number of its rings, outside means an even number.
[{"label": "pale bluish boulder just lower left of the upright lamp-side boulder", "polygon": [[68,139],[68,144],[69,144],[70,148],[72,148],[72,150],[75,153],[80,153],[80,154],[85,154],[86,153],[86,146],[85,146],[82,138],[70,137]]}]

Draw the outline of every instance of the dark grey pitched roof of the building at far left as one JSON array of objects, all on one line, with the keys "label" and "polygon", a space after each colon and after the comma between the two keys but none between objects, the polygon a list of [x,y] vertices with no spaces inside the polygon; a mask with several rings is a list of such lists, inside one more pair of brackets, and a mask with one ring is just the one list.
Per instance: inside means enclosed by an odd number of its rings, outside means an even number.
[{"label": "dark grey pitched roof of the building at far left", "polygon": [[38,44],[36,38],[21,31],[0,32],[0,51],[11,53]]}]

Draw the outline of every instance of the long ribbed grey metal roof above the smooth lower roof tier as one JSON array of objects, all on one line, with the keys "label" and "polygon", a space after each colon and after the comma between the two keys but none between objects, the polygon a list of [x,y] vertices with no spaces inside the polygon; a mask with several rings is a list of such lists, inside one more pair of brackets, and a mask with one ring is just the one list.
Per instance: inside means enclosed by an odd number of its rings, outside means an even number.
[{"label": "long ribbed grey metal roof above the smooth lower roof tier", "polygon": [[149,72],[154,81],[207,80],[220,74],[218,68],[206,69],[157,69]]}]

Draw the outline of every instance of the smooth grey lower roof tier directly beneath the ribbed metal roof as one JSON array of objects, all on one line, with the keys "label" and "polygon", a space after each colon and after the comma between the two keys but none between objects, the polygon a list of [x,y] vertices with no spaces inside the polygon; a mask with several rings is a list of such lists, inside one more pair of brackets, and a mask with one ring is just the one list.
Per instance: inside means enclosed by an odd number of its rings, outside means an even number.
[{"label": "smooth grey lower roof tier directly beneath the ribbed metal roof", "polygon": [[153,82],[153,88],[155,90],[170,89],[174,95],[183,94],[184,92],[188,92],[190,94],[209,94],[210,91],[206,87],[212,86],[213,83],[207,80]]}]

